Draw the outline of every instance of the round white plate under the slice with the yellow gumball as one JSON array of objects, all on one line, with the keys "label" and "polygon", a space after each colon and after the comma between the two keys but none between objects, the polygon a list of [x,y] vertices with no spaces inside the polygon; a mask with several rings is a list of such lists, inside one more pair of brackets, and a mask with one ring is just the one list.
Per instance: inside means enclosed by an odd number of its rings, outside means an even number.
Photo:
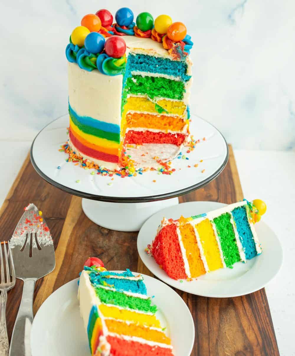
[{"label": "round white plate under the slice with the yellow gumball", "polygon": [[141,227],[137,239],[138,253],[146,267],[170,286],[204,297],[237,297],[265,287],[279,272],[283,263],[283,249],[278,237],[263,221],[255,224],[263,249],[260,256],[256,256],[246,263],[235,263],[232,269],[223,268],[207,273],[191,282],[186,280],[180,282],[168,277],[154,258],[144,251],[146,246],[154,240],[157,227],[164,216],[167,219],[178,219],[181,215],[193,216],[222,208],[222,206],[226,206],[226,204],[212,201],[192,201],[160,210],[151,216]]}]

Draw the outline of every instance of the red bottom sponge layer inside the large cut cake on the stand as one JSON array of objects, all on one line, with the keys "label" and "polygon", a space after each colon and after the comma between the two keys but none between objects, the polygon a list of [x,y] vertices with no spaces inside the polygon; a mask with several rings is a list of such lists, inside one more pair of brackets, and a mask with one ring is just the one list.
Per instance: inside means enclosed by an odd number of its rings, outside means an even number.
[{"label": "red bottom sponge layer inside the large cut cake on the stand", "polygon": [[142,145],[143,143],[171,143],[180,146],[186,135],[183,133],[165,133],[152,131],[128,131],[125,135],[125,143]]}]

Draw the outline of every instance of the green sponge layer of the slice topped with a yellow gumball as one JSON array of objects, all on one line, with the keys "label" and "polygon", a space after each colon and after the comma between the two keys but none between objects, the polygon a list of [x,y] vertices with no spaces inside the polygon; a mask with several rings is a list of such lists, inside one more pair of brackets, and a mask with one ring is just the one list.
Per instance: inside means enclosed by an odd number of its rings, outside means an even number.
[{"label": "green sponge layer of the slice topped with a yellow gumball", "polygon": [[236,243],[235,232],[230,220],[231,215],[229,213],[222,214],[213,219],[217,234],[219,236],[226,267],[231,267],[235,262],[241,261]]}]

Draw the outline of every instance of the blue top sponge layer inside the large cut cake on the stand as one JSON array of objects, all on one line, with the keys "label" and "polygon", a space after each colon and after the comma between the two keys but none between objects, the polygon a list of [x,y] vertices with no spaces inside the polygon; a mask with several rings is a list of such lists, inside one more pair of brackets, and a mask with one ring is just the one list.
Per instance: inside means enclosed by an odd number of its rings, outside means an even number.
[{"label": "blue top sponge layer inside the large cut cake on the stand", "polygon": [[181,77],[185,82],[191,78],[186,74],[187,64],[185,62],[171,61],[171,59],[152,57],[146,54],[130,54],[128,56],[125,75],[129,77],[133,70],[173,75]]}]

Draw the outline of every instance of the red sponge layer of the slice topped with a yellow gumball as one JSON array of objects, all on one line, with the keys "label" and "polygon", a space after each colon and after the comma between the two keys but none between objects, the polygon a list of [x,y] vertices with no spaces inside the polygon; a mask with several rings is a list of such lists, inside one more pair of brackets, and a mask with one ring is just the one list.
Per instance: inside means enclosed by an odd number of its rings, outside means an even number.
[{"label": "red sponge layer of the slice topped with a yellow gumball", "polygon": [[186,271],[176,232],[176,225],[164,226],[152,242],[152,255],[173,279],[186,279]]}]

